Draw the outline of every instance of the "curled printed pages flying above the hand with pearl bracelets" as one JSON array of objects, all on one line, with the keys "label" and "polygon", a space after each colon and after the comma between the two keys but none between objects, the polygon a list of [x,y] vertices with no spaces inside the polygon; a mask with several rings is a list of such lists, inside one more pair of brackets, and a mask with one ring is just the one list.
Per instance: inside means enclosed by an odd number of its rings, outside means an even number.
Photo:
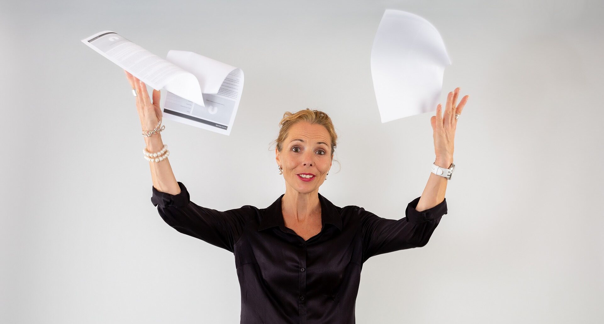
[{"label": "curled printed pages flying above the hand with pearl bracelets", "polygon": [[82,40],[153,89],[165,89],[162,118],[230,135],[243,92],[243,71],[188,51],[161,58],[112,31]]}]

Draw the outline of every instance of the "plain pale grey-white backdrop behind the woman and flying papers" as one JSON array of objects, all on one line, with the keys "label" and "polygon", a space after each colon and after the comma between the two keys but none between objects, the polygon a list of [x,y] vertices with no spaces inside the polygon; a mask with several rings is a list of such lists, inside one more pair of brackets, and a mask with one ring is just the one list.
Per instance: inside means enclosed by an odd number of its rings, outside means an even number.
[{"label": "plain pale grey-white backdrop behind the woman and flying papers", "polygon": [[[604,316],[601,1],[2,1],[2,323],[239,323],[233,255],[150,202],[123,70],[81,39],[113,30],[165,57],[245,72],[231,136],[166,120],[191,201],[284,193],[284,111],[340,136],[322,195],[399,219],[428,181],[430,117],[382,124],[370,51],[387,8],[432,22],[469,102],[448,214],[423,248],[364,265],[358,323],[598,323]],[[162,93],[165,95],[165,92]],[[339,172],[338,172],[339,171]]]}]

